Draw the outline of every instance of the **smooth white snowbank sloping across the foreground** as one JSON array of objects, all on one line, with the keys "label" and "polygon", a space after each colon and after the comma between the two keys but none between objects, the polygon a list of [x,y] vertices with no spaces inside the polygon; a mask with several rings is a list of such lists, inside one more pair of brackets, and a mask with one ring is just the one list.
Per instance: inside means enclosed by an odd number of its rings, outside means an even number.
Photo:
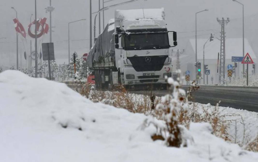
[{"label": "smooth white snowbank sloping across the foreground", "polygon": [[[140,125],[150,116],[93,103],[64,83],[0,73],[1,161],[258,161],[192,123],[188,147],[166,147]],[[159,121],[162,123],[161,121]]]}]

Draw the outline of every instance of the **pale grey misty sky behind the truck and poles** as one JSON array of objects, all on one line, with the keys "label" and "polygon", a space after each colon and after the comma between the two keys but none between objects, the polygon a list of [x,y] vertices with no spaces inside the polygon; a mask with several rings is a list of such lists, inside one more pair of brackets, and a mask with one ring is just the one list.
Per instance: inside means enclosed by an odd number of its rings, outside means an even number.
[{"label": "pale grey misty sky behind the truck and poles", "polygon": [[[107,1],[107,0],[105,0]],[[104,3],[105,6],[126,2],[128,0],[114,0]],[[0,5],[0,67],[6,69],[12,65],[16,66],[16,32],[13,19],[16,17],[14,7],[18,12],[18,19],[25,30],[28,30],[30,16],[32,21],[35,18],[35,1],[33,0],[1,0]],[[102,0],[101,8],[102,8]],[[255,53],[258,52],[258,1],[239,0],[244,4],[245,14],[245,38],[248,39]],[[92,0],[92,12],[98,11],[98,0]],[[37,1],[37,18],[47,18],[49,24],[49,12],[46,13],[45,7],[49,6],[49,0]],[[86,19],[70,24],[70,53],[74,51],[78,56],[89,52],[90,47],[90,1],[89,0],[52,0],[55,10],[52,12],[52,42],[54,42],[55,58],[57,63],[68,63],[68,22]],[[198,13],[197,15],[197,38],[208,38],[211,33],[215,34],[215,39],[220,38],[221,26],[216,18],[230,18],[230,22],[225,26],[227,38],[242,38],[242,6],[232,0],[138,0],[133,3],[120,5],[105,10],[105,26],[109,19],[114,18],[116,9],[128,10],[139,8],[165,8],[165,20],[168,30],[178,32],[178,46],[174,49],[189,48],[188,40],[195,38],[195,13],[208,9],[209,11]],[[103,30],[101,12],[101,31]],[[94,16],[92,21],[94,24]],[[96,35],[99,33],[98,16],[96,18]],[[93,27],[92,27],[93,29]],[[24,48],[19,35],[19,66],[25,67],[23,56]],[[92,33],[93,39],[93,33]],[[93,40],[92,40],[93,41]],[[49,33],[45,35],[43,42],[49,42]],[[247,42],[245,42],[247,43]],[[202,52],[199,50],[198,52]],[[214,51],[214,55],[220,49]],[[245,51],[247,53],[248,51]],[[235,54],[242,56],[242,50]],[[20,57],[22,59],[20,59]],[[256,55],[257,57],[257,55]]]}]

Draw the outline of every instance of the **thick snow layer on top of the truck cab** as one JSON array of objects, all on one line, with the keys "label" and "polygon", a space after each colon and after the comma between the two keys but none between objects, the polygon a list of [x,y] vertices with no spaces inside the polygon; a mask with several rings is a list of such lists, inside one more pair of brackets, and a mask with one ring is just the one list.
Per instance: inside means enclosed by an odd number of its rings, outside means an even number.
[{"label": "thick snow layer on top of the truck cab", "polygon": [[116,10],[115,18],[120,20],[133,19],[164,19],[164,8]]}]

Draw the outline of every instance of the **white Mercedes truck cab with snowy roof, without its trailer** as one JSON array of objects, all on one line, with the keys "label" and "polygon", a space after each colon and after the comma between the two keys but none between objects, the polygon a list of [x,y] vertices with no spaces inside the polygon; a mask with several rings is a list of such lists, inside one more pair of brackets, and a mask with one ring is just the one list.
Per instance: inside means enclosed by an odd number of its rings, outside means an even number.
[{"label": "white Mercedes truck cab with snowy roof, without its trailer", "polygon": [[[124,85],[165,84],[172,76],[164,8],[115,11],[115,57]],[[118,79],[119,80],[119,79]]]}]

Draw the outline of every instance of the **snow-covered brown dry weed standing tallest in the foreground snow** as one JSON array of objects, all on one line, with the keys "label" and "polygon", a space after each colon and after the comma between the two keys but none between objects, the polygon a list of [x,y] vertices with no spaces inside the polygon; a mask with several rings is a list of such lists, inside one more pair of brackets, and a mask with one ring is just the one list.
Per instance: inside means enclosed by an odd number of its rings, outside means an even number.
[{"label": "snow-covered brown dry weed standing tallest in the foreground snow", "polygon": [[[187,104],[186,93],[184,90],[180,89],[181,85],[174,81],[172,78],[167,78],[168,83],[174,86],[172,95],[167,94],[161,98],[161,104],[156,106],[156,112],[162,110],[162,118],[165,121],[165,126],[160,127],[154,121],[150,121],[145,126],[150,124],[156,127],[156,133],[151,136],[153,140],[165,140],[166,145],[169,147],[180,147],[183,143],[182,131],[178,123],[178,113],[180,106]],[[154,102],[153,102],[154,103]],[[186,145],[184,143],[184,145]]]}]

